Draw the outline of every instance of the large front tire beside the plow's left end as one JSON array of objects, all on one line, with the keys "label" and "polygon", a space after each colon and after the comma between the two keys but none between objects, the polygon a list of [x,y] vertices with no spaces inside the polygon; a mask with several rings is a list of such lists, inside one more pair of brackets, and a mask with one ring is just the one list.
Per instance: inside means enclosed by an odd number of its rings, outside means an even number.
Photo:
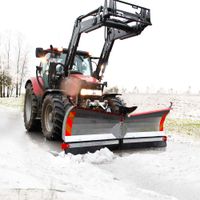
[{"label": "large front tire beside the plow's left end", "polygon": [[42,104],[42,132],[48,140],[61,139],[64,104],[59,95],[47,95]]}]

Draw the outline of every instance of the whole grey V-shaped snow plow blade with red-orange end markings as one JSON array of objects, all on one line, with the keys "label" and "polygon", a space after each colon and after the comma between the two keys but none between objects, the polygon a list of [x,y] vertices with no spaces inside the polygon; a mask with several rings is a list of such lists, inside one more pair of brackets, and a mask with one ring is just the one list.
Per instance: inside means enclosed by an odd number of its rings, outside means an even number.
[{"label": "whole grey V-shaped snow plow blade with red-orange end markings", "polygon": [[171,108],[120,115],[71,106],[65,114],[62,148],[66,153],[132,147],[165,147],[164,122]]}]

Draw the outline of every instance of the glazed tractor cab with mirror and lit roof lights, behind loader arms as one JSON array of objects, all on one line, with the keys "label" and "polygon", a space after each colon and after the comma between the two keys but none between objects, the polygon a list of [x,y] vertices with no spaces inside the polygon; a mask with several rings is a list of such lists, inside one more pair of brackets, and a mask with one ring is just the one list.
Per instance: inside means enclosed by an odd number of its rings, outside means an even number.
[{"label": "glazed tractor cab with mirror and lit roof lights, behind loader arms", "polygon": [[60,81],[70,75],[76,75],[76,77],[79,76],[80,79],[85,80],[92,77],[92,62],[88,52],[77,51],[73,66],[66,75],[65,62],[67,55],[67,49],[51,48],[43,50],[42,48],[36,48],[36,57],[41,59],[38,72],[42,76],[44,88],[58,89]]}]

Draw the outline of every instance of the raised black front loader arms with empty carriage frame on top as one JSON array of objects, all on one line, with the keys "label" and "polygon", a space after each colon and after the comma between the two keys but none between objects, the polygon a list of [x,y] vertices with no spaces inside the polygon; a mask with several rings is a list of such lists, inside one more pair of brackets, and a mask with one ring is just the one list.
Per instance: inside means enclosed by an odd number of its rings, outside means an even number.
[{"label": "raised black front loader arms with empty carriage frame on top", "polygon": [[[118,5],[131,8],[131,12],[118,9]],[[105,27],[105,42],[94,72],[94,77],[101,80],[114,41],[137,36],[148,25],[151,25],[149,9],[120,0],[105,0],[104,6],[76,19],[68,46],[69,52],[65,62],[65,75],[67,76],[72,69],[82,33],[89,33],[100,27]]]}]

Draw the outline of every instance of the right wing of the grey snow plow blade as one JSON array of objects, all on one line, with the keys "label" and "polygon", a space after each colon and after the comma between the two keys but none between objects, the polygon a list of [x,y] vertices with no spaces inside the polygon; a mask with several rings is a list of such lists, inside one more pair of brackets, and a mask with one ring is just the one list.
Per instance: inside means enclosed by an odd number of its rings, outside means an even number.
[{"label": "right wing of the grey snow plow blade", "polygon": [[137,113],[126,117],[126,135],[123,145],[127,148],[132,145],[145,144],[145,146],[166,146],[167,137],[164,132],[164,122],[171,108]]}]

